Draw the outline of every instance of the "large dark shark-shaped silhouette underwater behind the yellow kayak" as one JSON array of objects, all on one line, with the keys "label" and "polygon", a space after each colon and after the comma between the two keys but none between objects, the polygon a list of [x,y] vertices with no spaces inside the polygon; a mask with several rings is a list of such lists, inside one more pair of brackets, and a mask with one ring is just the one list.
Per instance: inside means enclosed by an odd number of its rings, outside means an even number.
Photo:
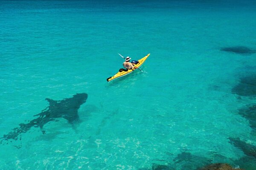
[{"label": "large dark shark-shaped silhouette underwater behind the yellow kayak", "polygon": [[75,94],[71,98],[59,101],[46,99],[49,102],[49,106],[41,113],[34,115],[39,116],[38,118],[29,121],[27,124],[21,123],[20,127],[14,128],[7,135],[3,135],[0,138],[0,143],[2,144],[4,140],[9,139],[17,140],[21,133],[26,133],[31,127],[40,127],[42,132],[45,133],[42,129],[44,125],[51,121],[57,122],[58,118],[67,119],[69,123],[73,124],[73,122],[79,120],[78,109],[86,102],[86,99],[87,94],[85,93]]}]

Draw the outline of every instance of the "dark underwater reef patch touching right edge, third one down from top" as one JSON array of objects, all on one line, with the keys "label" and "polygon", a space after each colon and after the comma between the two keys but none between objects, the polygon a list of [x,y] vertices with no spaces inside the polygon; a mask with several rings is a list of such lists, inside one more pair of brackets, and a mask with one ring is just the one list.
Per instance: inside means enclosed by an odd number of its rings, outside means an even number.
[{"label": "dark underwater reef patch touching right edge, third one down from top", "polygon": [[256,129],[256,105],[239,109],[239,114],[249,121],[251,128]]}]

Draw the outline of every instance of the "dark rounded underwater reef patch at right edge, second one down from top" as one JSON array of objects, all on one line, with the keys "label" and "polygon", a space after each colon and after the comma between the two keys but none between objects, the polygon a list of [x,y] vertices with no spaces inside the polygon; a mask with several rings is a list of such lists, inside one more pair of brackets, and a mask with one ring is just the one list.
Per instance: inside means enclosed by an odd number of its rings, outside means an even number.
[{"label": "dark rounded underwater reef patch at right edge, second one down from top", "polygon": [[240,78],[239,83],[232,88],[232,93],[240,96],[256,96],[256,75]]}]

